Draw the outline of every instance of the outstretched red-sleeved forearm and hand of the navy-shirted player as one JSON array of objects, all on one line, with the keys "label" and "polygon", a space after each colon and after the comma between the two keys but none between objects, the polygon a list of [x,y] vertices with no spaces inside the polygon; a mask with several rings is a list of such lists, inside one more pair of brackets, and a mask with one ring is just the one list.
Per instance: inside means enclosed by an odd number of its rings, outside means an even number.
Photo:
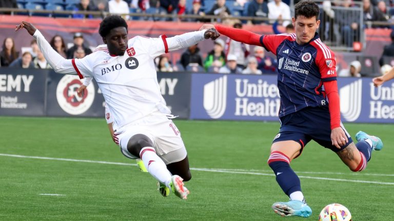
[{"label": "outstretched red-sleeved forearm and hand of the navy-shirted player", "polygon": [[211,29],[211,28],[216,29],[220,34],[226,35],[235,41],[247,43],[248,45],[261,46],[261,42],[260,42],[261,35],[258,35],[256,33],[247,30],[229,28],[222,25],[211,25],[211,24],[203,25],[200,28],[200,30]]}]

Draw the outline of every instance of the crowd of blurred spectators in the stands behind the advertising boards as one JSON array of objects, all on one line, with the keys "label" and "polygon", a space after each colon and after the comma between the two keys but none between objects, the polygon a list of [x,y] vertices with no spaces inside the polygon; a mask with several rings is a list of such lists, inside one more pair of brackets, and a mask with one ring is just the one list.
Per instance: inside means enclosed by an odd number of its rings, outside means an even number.
[{"label": "crowd of blurred spectators in the stands behind the advertising boards", "polygon": [[[19,9],[42,9],[53,11],[102,11],[111,14],[129,14],[133,12],[142,12],[145,14],[170,14],[174,16],[167,17],[138,17],[138,19],[153,20],[176,20],[176,21],[202,21],[210,22],[211,19],[204,17],[183,18],[178,15],[215,15],[216,22],[226,16],[248,16],[259,17],[263,19],[234,20],[233,27],[242,29],[243,24],[272,24],[273,33],[279,34],[278,26],[286,28],[286,32],[293,32],[290,22],[291,10],[289,5],[296,4],[294,1],[282,0],[11,0],[0,1],[2,8],[19,8]],[[354,41],[360,40],[360,30],[358,16],[353,14],[348,19],[341,11],[334,13],[335,7],[359,7],[363,8],[363,21],[391,21],[394,18],[394,1],[392,0],[345,0],[345,1],[321,1],[321,19],[323,24],[319,30],[321,38],[325,41],[335,41],[343,43],[345,46],[352,47]],[[360,10],[361,11],[361,10]],[[342,11],[343,12],[343,11]],[[357,11],[346,11],[356,13]],[[43,14],[42,14],[43,15]],[[47,14],[50,15],[50,14]],[[56,16],[56,15],[50,15]],[[59,14],[57,16],[78,18],[95,18],[102,15],[89,13],[84,14]],[[127,19],[136,17],[125,15]],[[335,18],[335,20],[330,20]],[[341,30],[337,30],[332,24],[339,24]],[[346,24],[347,25],[346,25]],[[388,25],[372,25],[372,27],[386,27]],[[283,30],[282,28],[280,28]],[[358,30],[358,31],[356,31]],[[333,34],[327,34],[327,32]],[[335,34],[340,34],[336,37]],[[337,38],[337,39],[334,39]],[[394,39],[394,34],[391,35]],[[341,39],[340,41],[338,39]],[[86,46],[82,33],[75,33],[73,42],[65,42],[62,36],[55,35],[50,40],[51,46],[65,58],[82,58],[92,53],[95,46]],[[67,47],[71,46],[71,47]],[[380,59],[382,72],[386,72],[387,62],[384,62],[384,56],[393,56],[392,45],[384,49]],[[18,48],[13,38],[6,37],[3,41],[2,51],[0,53],[1,67],[22,67],[22,68],[50,68],[34,40],[30,48]],[[224,41],[217,39],[214,42],[213,49],[207,54],[202,54],[198,45],[189,47],[183,52],[181,59],[171,62],[169,57],[161,56],[156,58],[157,71],[192,71],[192,72],[211,72],[211,73],[242,73],[242,74],[275,74],[276,60],[266,56],[266,51],[262,47],[249,48],[248,45],[233,41],[229,38]],[[341,70],[339,76],[360,76],[361,64],[358,61],[349,63],[349,69]]]}]

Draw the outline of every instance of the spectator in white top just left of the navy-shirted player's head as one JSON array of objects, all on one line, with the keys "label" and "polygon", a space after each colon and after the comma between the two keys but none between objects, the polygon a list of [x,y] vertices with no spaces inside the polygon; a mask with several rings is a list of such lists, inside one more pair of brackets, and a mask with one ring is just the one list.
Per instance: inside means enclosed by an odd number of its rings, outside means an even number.
[{"label": "spectator in white top just left of the navy-shirted player's head", "polygon": [[290,7],[283,3],[282,0],[274,0],[267,5],[270,24],[274,23],[274,20],[283,20],[283,27],[291,23]]}]

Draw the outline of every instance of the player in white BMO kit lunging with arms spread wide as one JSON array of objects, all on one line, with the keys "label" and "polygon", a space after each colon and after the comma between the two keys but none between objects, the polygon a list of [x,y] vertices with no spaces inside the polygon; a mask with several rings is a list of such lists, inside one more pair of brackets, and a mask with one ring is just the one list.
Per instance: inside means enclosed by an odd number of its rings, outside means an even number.
[{"label": "player in white BMO kit lunging with arms spread wide", "polygon": [[100,50],[81,59],[65,59],[32,24],[22,21],[15,31],[21,28],[37,40],[55,72],[96,80],[114,117],[115,135],[122,150],[142,159],[148,172],[162,184],[160,190],[168,188],[186,200],[189,190],[183,181],[191,179],[189,160],[180,131],[169,119],[173,116],[160,93],[153,59],[204,39],[216,39],[220,34],[208,29],[170,38],[161,35],[128,39],[126,21],[110,15],[100,24],[99,33],[105,43]]}]

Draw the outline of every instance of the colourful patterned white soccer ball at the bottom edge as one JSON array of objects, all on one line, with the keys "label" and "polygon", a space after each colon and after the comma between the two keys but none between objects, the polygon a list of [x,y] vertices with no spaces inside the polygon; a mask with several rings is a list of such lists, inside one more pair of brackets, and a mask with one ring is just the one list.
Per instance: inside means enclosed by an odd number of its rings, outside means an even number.
[{"label": "colourful patterned white soccer ball at the bottom edge", "polygon": [[320,212],[319,221],[351,221],[351,214],[341,204],[330,204]]}]

